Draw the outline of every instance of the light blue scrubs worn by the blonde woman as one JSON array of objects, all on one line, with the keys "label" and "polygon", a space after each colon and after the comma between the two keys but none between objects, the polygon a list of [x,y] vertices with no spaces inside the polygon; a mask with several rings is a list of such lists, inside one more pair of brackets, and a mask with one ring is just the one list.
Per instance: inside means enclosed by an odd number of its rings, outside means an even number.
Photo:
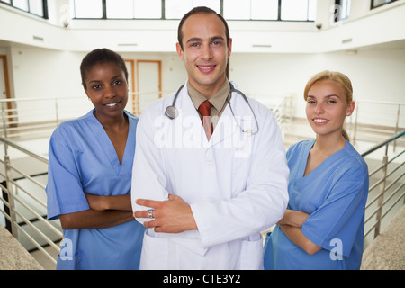
[{"label": "light blue scrubs worn by the blonde woman", "polygon": [[294,144],[287,151],[290,196],[287,209],[311,214],[302,233],[322,247],[307,254],[277,225],[267,235],[265,269],[359,269],[363,255],[368,168],[347,141],[345,148],[303,176],[315,140]]}]

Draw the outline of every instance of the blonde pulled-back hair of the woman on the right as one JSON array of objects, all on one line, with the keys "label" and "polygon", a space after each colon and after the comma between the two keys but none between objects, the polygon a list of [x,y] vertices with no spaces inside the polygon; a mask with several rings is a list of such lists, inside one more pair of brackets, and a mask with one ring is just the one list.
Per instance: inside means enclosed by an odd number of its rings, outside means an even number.
[{"label": "blonde pulled-back hair of the woman on the right", "polygon": [[[308,92],[310,91],[311,86],[314,85],[316,82],[325,81],[325,80],[330,80],[330,81],[334,81],[334,82],[338,83],[343,88],[343,91],[345,91],[346,102],[351,103],[353,101],[353,86],[352,86],[352,82],[350,81],[350,79],[346,75],[344,75],[340,72],[333,72],[333,71],[328,71],[328,70],[315,74],[308,81],[307,85],[305,86],[304,94],[303,94],[305,101],[307,100]],[[342,135],[348,141],[350,141],[348,134],[347,134],[347,130],[345,130],[344,128],[342,128]]]}]

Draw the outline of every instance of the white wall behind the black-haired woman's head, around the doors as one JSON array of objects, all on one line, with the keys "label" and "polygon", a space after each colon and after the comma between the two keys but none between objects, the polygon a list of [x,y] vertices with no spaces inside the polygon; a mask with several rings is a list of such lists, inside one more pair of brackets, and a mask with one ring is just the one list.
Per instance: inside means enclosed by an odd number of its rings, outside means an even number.
[{"label": "white wall behind the black-haired woman's head, around the doors", "polygon": [[[86,52],[28,46],[11,48],[11,51],[16,98],[85,96],[79,67]],[[171,91],[186,79],[184,64],[176,53],[121,52],[121,56],[162,61],[163,90]]]}]

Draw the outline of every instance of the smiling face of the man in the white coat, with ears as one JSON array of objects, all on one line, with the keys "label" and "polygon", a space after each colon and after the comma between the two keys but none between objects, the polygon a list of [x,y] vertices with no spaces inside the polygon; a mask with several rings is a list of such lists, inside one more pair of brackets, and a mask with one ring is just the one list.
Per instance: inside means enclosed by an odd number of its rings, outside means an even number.
[{"label": "smiling face of the man in the white coat, with ears", "polygon": [[183,49],[176,44],[184,61],[190,84],[206,97],[223,85],[232,40],[226,40],[225,25],[216,14],[193,14],[183,25]]}]

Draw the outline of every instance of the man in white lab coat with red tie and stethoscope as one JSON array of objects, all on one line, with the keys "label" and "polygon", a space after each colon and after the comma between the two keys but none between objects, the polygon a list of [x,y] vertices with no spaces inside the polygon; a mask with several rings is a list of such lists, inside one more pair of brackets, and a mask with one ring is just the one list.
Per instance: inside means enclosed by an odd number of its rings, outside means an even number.
[{"label": "man in white lab coat with red tie and stethoscope", "polygon": [[193,8],[176,44],[188,81],[140,116],[131,199],[148,228],[141,269],[263,268],[260,231],[284,215],[289,171],[273,113],[230,91],[231,48],[222,16]]}]

